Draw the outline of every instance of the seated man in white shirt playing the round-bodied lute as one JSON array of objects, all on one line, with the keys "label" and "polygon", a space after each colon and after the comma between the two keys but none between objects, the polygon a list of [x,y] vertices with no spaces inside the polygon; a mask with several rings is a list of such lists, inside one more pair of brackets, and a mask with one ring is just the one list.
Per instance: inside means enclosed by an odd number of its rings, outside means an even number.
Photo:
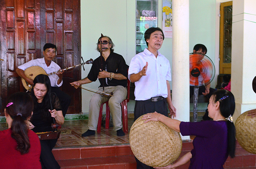
[{"label": "seated man in white shirt playing the round-bodied lute", "polygon": [[[27,76],[24,74],[24,71],[31,66],[40,66],[45,70],[47,74],[61,70],[60,66],[57,65],[57,63],[55,63],[54,61],[52,61],[56,56],[56,51],[57,51],[57,47],[54,44],[46,43],[44,45],[44,51],[43,51],[44,58],[30,60],[27,63],[24,63],[23,65],[18,66],[18,68],[16,69],[16,72],[20,77],[22,77],[25,81],[27,81],[28,84],[33,85],[33,80],[30,78],[27,78]],[[61,103],[61,107],[62,107],[62,113],[63,113],[63,116],[65,117],[67,113],[67,109],[69,108],[69,104],[71,102],[71,97],[59,89],[59,87],[63,83],[62,81],[63,72],[64,71],[60,71],[56,74],[49,75],[49,78],[51,82],[50,85],[52,86],[51,91],[56,93],[56,95],[58,96]]]}]

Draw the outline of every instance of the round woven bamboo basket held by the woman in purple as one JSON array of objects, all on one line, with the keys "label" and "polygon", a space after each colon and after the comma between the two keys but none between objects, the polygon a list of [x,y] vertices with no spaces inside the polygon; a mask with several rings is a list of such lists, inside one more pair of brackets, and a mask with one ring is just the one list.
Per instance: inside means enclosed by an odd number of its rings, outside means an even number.
[{"label": "round woven bamboo basket held by the woman in purple", "polygon": [[164,167],[174,162],[181,154],[180,134],[159,121],[144,121],[139,117],[130,130],[134,155],[151,167]]}]

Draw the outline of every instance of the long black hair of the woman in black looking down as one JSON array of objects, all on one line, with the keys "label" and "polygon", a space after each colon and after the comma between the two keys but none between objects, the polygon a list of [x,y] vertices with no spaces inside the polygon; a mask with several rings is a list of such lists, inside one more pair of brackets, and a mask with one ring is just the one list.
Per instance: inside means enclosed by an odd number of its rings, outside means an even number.
[{"label": "long black hair of the woman in black looking down", "polygon": [[34,93],[34,87],[35,87],[35,84],[37,83],[44,84],[47,88],[47,93],[45,94],[44,99],[42,101],[43,107],[45,109],[44,116],[47,117],[49,116],[48,110],[50,109],[51,82],[47,75],[40,74],[35,76],[35,79],[33,80],[33,88],[31,90],[31,96],[34,101],[35,109],[37,108],[37,97],[35,96],[35,93]]}]

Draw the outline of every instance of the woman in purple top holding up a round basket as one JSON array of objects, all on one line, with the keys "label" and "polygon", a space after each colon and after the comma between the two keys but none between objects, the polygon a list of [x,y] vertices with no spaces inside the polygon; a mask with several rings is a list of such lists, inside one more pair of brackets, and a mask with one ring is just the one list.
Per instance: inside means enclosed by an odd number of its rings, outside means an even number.
[{"label": "woman in purple top holding up a round basket", "polygon": [[232,115],[235,110],[234,96],[230,91],[217,90],[209,99],[209,117],[213,121],[181,122],[157,112],[143,116],[148,121],[160,121],[182,136],[196,136],[194,149],[182,156],[176,163],[157,169],[174,169],[190,161],[189,169],[223,169],[230,156],[235,156],[235,126]]}]

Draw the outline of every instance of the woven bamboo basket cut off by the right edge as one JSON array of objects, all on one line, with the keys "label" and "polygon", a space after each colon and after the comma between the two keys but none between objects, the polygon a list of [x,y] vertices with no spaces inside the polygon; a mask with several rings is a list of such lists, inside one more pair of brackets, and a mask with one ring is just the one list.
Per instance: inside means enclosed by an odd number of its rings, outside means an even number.
[{"label": "woven bamboo basket cut off by the right edge", "polygon": [[248,111],[236,119],[236,139],[248,152],[256,154],[256,117],[248,116]]}]

